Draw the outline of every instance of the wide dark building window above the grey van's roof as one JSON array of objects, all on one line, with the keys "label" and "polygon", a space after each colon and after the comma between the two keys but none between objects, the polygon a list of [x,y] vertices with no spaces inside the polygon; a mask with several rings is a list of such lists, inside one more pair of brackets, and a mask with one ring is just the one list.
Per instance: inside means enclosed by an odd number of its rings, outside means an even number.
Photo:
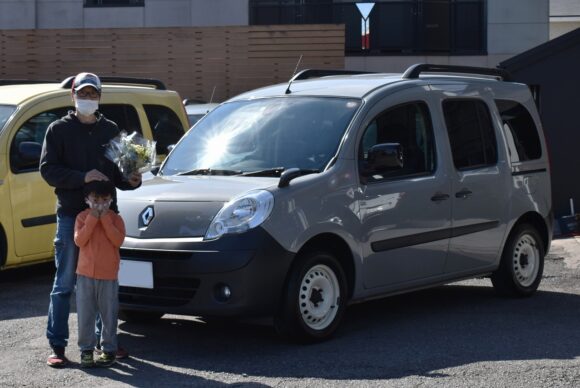
[{"label": "wide dark building window above the grey van's roof", "polygon": [[485,0],[250,0],[250,24],[344,24],[349,55],[486,54]]}]

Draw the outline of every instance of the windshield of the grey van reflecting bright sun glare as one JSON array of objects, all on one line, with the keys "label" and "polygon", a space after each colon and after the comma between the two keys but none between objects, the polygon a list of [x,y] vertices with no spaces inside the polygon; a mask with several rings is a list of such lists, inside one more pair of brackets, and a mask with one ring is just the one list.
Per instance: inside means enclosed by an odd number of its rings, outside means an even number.
[{"label": "windshield of the grey van reflecting bright sun glare", "polygon": [[329,97],[222,104],[185,135],[160,173],[322,171],[359,106],[360,100]]}]

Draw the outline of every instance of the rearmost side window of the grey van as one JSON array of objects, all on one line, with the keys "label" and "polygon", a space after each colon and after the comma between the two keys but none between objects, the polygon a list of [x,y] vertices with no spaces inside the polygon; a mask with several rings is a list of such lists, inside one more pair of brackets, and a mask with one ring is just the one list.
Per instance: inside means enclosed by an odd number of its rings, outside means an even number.
[{"label": "rearmost side window of the grey van", "polygon": [[520,162],[539,159],[542,156],[542,146],[538,128],[530,112],[516,101],[496,100],[495,104],[508,140],[510,160]]}]

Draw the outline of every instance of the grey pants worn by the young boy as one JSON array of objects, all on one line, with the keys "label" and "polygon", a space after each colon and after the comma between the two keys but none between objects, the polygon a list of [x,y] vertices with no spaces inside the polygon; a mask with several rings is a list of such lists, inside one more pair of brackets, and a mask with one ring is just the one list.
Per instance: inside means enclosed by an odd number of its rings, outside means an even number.
[{"label": "grey pants worn by the young boy", "polygon": [[119,312],[119,282],[117,280],[98,280],[77,276],[77,317],[79,326],[79,348],[93,350],[95,320],[101,314],[101,349],[107,353],[117,351],[117,315]]}]

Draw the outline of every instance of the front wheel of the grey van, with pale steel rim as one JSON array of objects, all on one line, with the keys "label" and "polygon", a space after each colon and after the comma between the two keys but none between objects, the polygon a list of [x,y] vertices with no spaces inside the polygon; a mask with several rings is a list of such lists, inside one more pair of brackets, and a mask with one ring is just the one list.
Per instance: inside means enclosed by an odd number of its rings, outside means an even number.
[{"label": "front wheel of the grey van, with pale steel rim", "polygon": [[312,252],[292,267],[274,326],[298,342],[328,339],[338,328],[346,307],[346,277],[338,260]]}]

